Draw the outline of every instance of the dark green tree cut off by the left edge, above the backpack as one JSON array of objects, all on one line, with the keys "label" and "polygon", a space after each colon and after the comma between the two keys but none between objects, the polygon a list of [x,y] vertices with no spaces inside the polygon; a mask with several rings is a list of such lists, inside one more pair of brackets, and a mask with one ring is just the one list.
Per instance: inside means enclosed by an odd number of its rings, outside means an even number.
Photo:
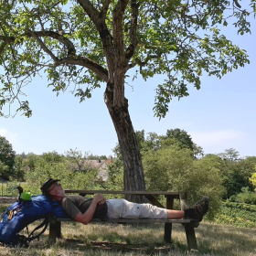
[{"label": "dark green tree cut off by the left edge, above the backpack", "polygon": [[[0,162],[2,162],[2,177],[8,179],[13,174],[15,165],[16,152],[13,150],[12,144],[10,144],[5,137],[0,136]],[[7,170],[5,168],[7,166]],[[4,171],[5,169],[5,171]]]}]

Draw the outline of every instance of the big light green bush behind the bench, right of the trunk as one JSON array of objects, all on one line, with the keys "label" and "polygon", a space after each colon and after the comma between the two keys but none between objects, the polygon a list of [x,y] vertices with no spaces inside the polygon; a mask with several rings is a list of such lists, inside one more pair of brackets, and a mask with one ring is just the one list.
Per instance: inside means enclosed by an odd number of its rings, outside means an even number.
[{"label": "big light green bush behind the bench, right of the trunk", "polygon": [[186,192],[191,203],[208,195],[208,219],[214,217],[224,188],[219,169],[210,161],[195,160],[187,148],[170,146],[144,155],[143,164],[147,190]]}]

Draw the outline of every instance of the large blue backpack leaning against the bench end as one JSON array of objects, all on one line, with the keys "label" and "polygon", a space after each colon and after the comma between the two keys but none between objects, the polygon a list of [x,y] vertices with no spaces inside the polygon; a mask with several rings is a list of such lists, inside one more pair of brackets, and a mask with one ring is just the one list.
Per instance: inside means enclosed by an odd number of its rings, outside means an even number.
[{"label": "large blue backpack leaning against the bench end", "polygon": [[[39,195],[31,197],[31,200],[19,198],[18,202],[7,208],[1,216],[0,242],[11,247],[28,247],[28,243],[31,240],[39,240],[39,236],[48,228],[49,215],[58,218],[66,217],[59,203],[48,197]],[[27,237],[18,234],[22,229],[25,229],[28,224],[37,219],[44,219],[44,221],[30,234],[28,234],[27,228]],[[34,232],[42,227],[44,227],[44,229],[42,229],[37,236],[34,236]]]}]

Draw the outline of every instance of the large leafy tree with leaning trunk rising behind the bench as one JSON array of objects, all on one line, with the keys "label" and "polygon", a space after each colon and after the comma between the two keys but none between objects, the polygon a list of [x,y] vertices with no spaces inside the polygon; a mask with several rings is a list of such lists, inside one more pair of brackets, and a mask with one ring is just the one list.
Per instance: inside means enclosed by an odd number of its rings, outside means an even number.
[{"label": "large leafy tree with leaning trunk rising behind the bench", "polygon": [[[251,6],[254,5],[254,0]],[[144,190],[139,147],[124,96],[129,69],[147,80],[165,75],[156,88],[155,116],[165,117],[173,97],[200,88],[204,73],[221,78],[249,62],[246,52],[220,34],[232,24],[250,32],[250,13],[237,1],[16,0],[1,5],[1,113],[17,99],[27,117],[28,101],[18,94],[34,76],[48,74],[53,91],[75,84],[80,101],[105,84],[104,101],[123,155],[124,189]],[[132,199],[132,198],[131,198]]]}]

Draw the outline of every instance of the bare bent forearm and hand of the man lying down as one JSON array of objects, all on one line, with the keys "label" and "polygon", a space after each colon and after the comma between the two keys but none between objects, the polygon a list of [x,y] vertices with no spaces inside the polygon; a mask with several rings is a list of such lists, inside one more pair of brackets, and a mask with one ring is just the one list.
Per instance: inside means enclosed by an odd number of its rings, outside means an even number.
[{"label": "bare bent forearm and hand of the man lying down", "polygon": [[97,208],[97,204],[99,203],[100,205],[103,204],[104,202],[106,201],[105,197],[103,197],[101,194],[97,194],[92,202],[91,202],[91,206],[88,208],[88,210],[82,214],[81,212],[79,212],[76,217],[74,218],[74,220],[80,222],[80,223],[83,223],[85,225],[87,225],[92,217],[93,217],[93,214],[95,212],[95,209]]}]

